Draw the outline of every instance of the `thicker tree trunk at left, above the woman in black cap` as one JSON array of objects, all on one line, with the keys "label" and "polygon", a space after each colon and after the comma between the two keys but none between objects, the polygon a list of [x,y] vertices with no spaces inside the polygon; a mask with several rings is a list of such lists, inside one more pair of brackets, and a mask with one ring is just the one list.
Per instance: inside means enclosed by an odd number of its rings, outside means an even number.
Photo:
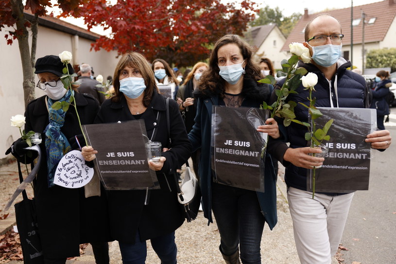
[{"label": "thicker tree trunk at left, above the woman in black cap", "polygon": [[[18,40],[20,58],[22,62],[23,92],[25,106],[35,99],[34,93],[34,73],[32,59],[29,51],[29,32],[24,23],[28,22],[23,14],[22,0],[11,1],[13,16],[16,18],[17,31],[15,32]],[[37,34],[37,31],[36,33]],[[37,35],[36,35],[37,37]],[[34,52],[35,55],[35,52]]]}]

